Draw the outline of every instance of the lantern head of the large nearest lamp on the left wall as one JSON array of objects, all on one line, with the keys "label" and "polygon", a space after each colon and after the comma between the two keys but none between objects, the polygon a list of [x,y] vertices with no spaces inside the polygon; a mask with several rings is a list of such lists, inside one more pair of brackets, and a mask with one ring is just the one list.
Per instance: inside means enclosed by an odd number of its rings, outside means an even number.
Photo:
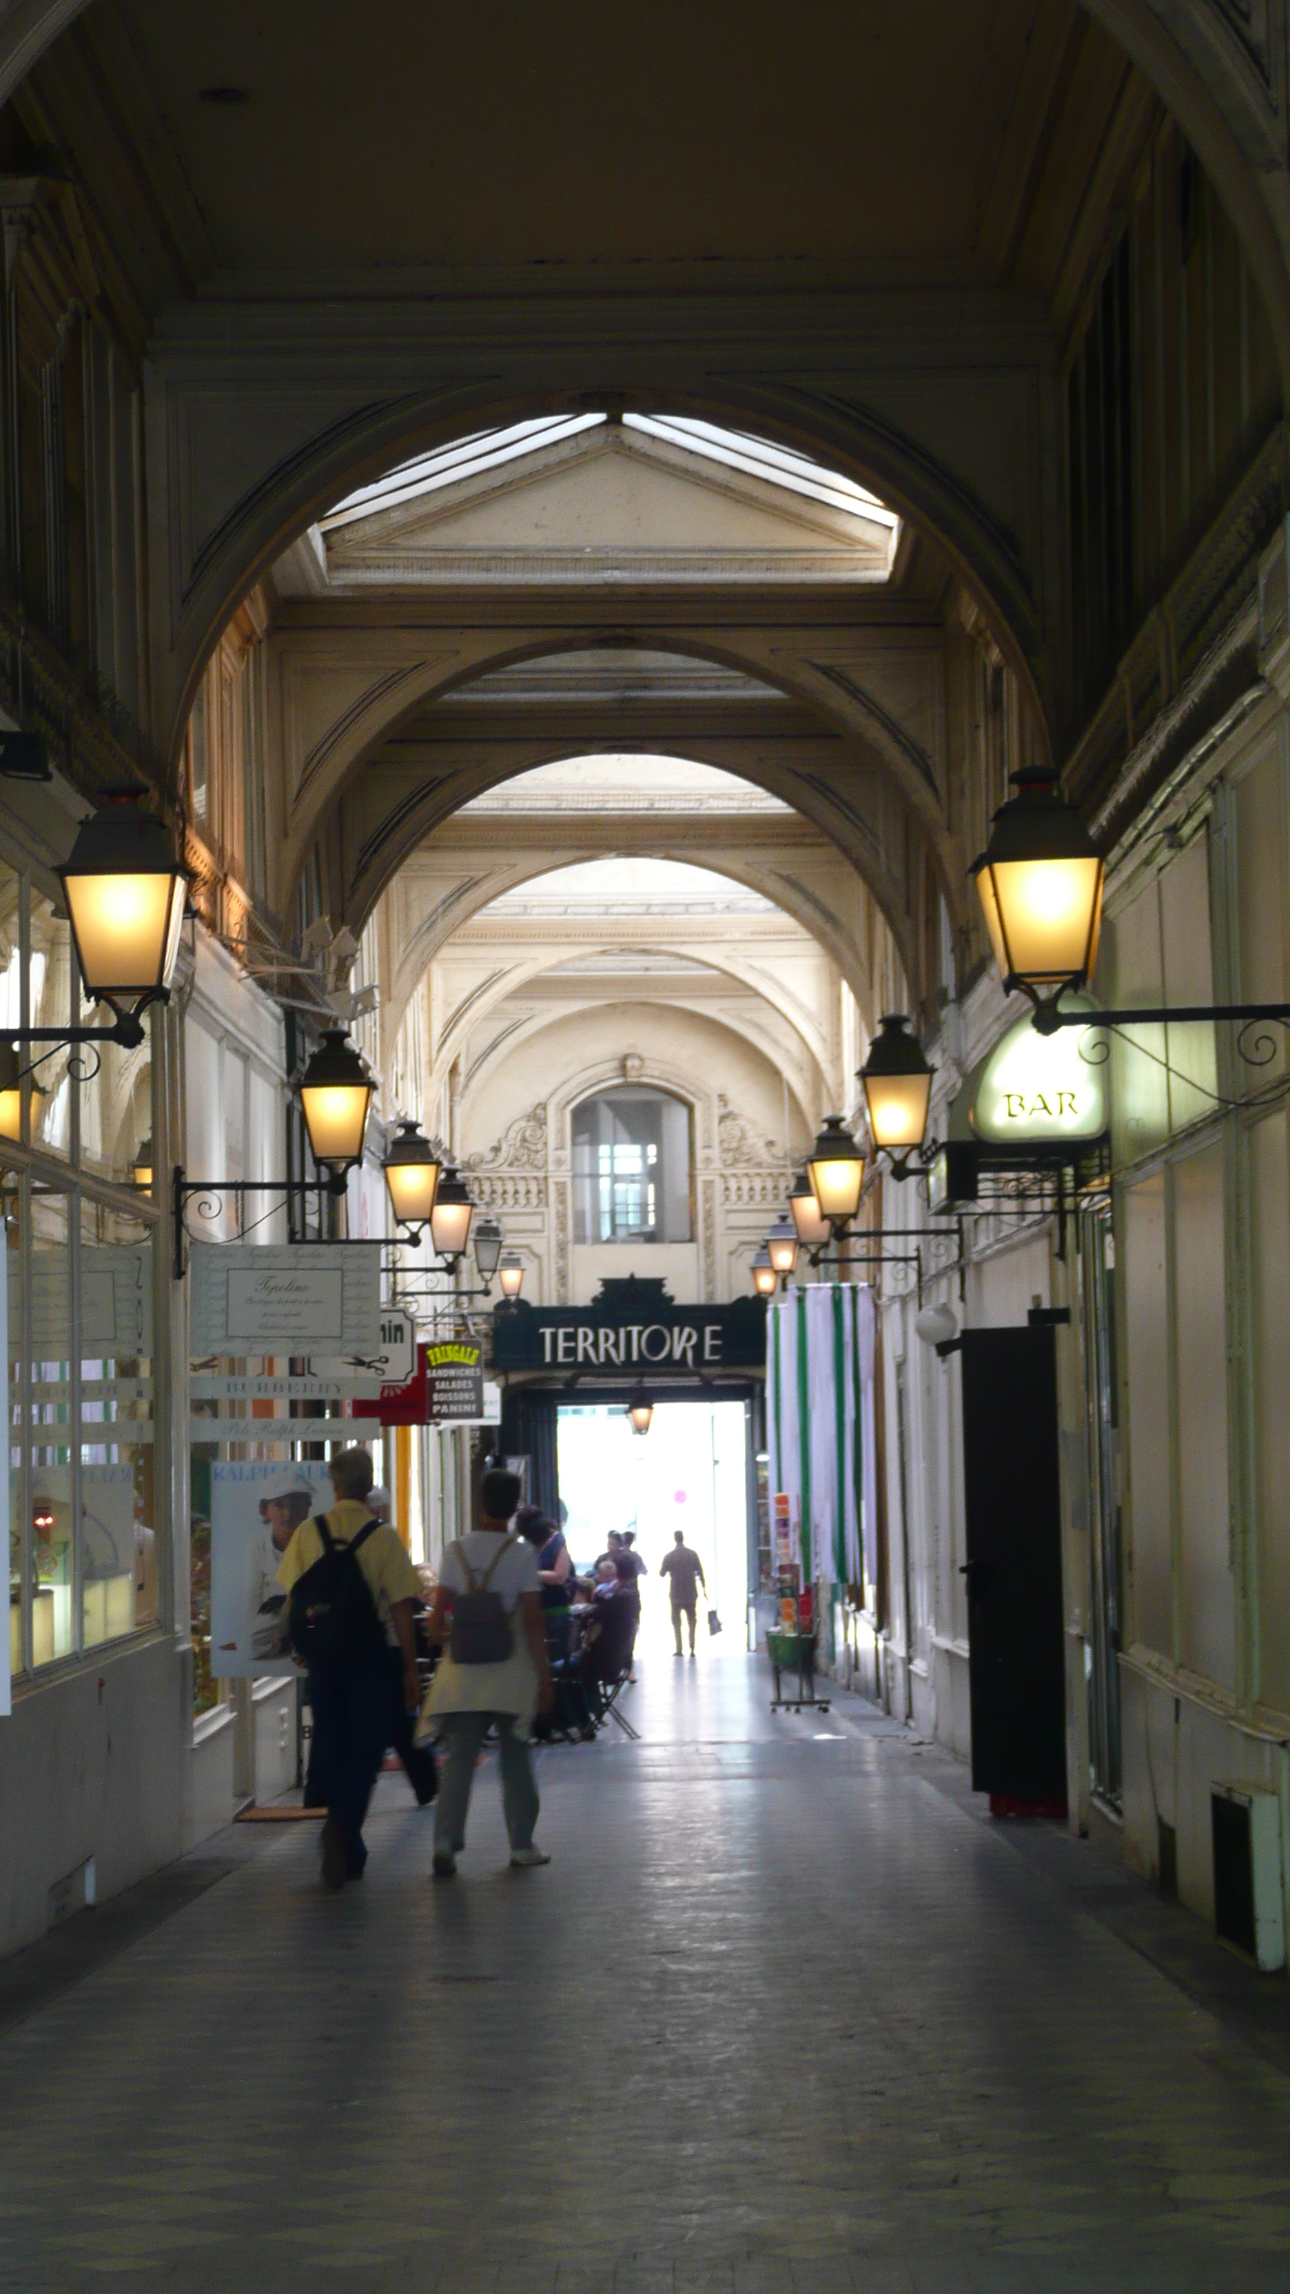
[{"label": "lantern head of the large nearest lamp on the left wall", "polygon": [[161,821],[129,803],[94,812],[57,876],[90,1002],[165,996],[188,872]]}]

